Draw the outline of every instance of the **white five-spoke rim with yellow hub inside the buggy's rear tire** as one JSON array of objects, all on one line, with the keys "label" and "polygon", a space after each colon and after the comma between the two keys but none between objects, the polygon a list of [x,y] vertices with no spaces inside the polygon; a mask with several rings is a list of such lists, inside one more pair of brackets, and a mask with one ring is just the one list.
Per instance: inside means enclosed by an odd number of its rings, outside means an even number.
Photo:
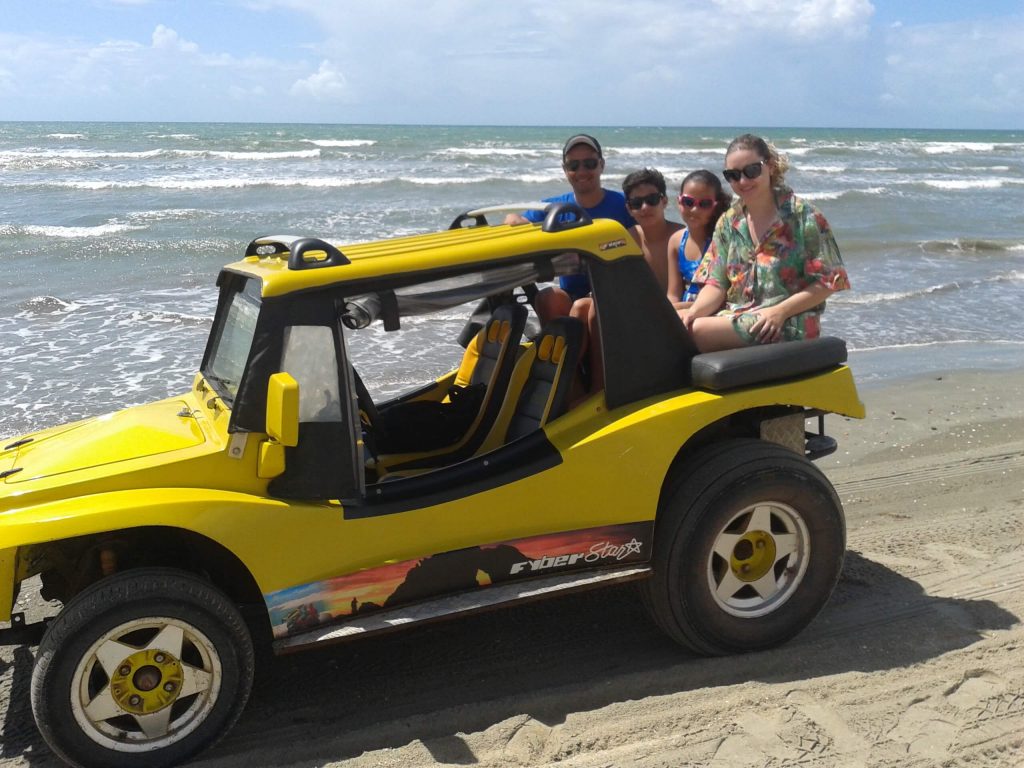
[{"label": "white five-spoke rim with yellow hub inside the buggy's rear tire", "polygon": [[722,526],[708,558],[708,587],[716,604],[755,618],[788,600],[807,572],[810,537],[787,504],[759,502]]}]

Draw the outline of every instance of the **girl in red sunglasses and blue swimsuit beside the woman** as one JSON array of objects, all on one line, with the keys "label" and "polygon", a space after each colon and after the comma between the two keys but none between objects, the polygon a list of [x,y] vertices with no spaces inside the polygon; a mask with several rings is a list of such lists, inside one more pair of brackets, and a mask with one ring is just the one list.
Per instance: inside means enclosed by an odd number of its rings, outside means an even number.
[{"label": "girl in red sunglasses and blue swimsuit beside the woman", "polygon": [[715,224],[732,203],[732,196],[722,188],[718,176],[699,170],[683,179],[676,203],[686,228],[669,240],[669,301],[677,309],[683,309],[690,306],[700,290],[700,284],[693,282],[693,274],[708,252]]}]

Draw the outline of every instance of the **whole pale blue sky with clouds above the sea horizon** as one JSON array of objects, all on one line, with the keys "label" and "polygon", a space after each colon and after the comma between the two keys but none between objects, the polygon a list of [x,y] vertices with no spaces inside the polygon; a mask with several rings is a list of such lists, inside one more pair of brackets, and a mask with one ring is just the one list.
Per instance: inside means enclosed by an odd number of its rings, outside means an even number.
[{"label": "whole pale blue sky with clouds above the sea horizon", "polygon": [[0,120],[1024,127],[1024,0],[0,0]]}]

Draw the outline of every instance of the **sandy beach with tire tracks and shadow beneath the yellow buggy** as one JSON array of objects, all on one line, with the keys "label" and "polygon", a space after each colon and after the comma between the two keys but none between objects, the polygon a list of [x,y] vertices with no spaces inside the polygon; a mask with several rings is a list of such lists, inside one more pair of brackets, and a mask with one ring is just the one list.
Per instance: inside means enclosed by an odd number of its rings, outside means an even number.
[{"label": "sandy beach with tire tracks and shadow beneath the yellow buggy", "polygon": [[[632,587],[267,659],[196,766],[1024,766],[1024,374],[864,389],[819,462],[840,585],[772,651],[699,658]],[[0,766],[54,766],[0,649]]]}]

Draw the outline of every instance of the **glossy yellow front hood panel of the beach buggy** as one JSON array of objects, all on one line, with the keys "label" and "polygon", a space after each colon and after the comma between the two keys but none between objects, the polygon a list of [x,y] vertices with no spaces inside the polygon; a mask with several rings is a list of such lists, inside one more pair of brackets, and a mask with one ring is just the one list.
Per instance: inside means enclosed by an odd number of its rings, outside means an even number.
[{"label": "glossy yellow front hood panel of the beach buggy", "polygon": [[[180,451],[205,439],[187,403],[168,399],[16,440],[10,443],[10,453],[4,453],[0,468],[6,470],[5,482],[16,483]],[[14,451],[10,464],[7,460]]]}]

